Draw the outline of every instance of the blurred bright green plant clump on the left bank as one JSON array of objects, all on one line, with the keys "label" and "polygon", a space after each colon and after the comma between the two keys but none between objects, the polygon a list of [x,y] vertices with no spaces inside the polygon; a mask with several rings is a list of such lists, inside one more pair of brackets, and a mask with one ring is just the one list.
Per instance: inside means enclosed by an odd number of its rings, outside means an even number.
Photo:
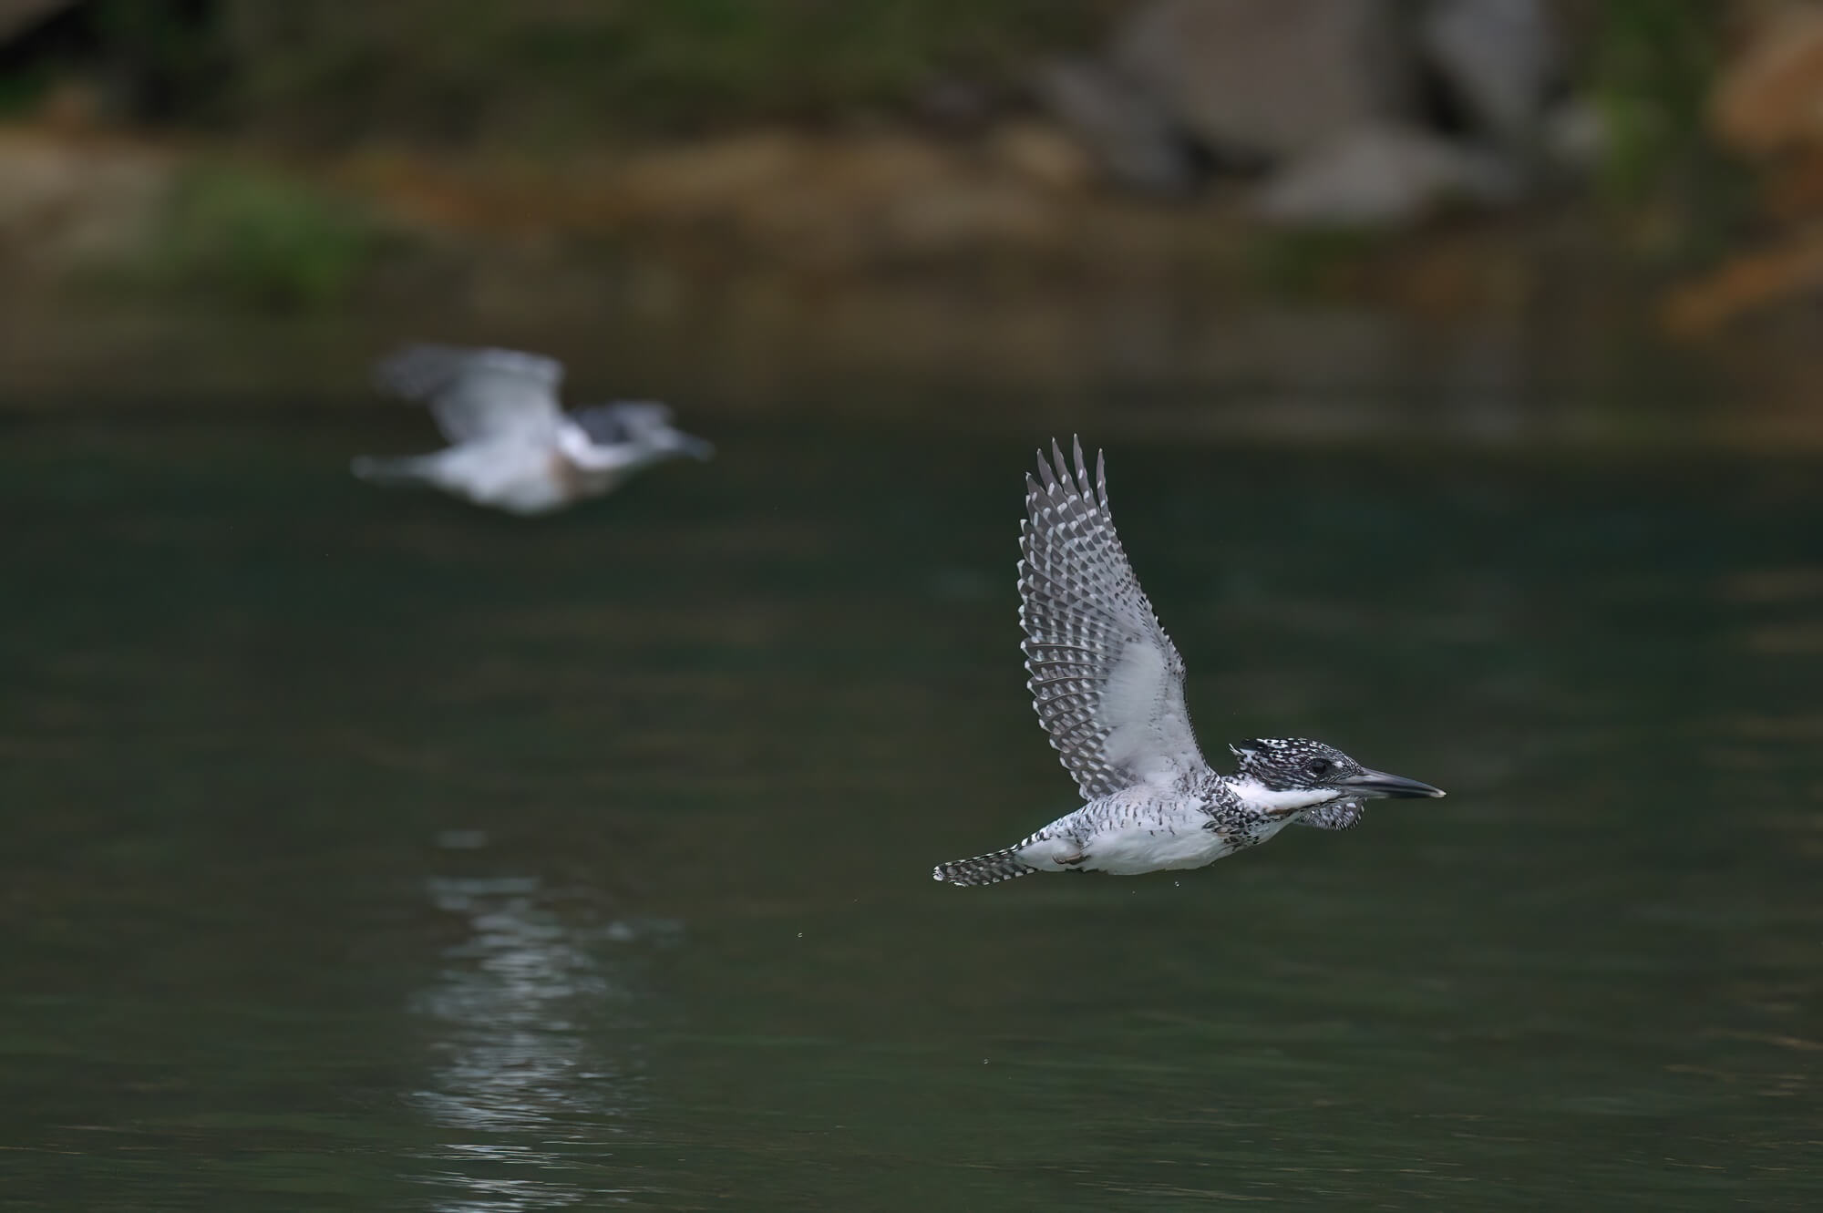
[{"label": "blurred bright green plant clump on the left bank", "polygon": [[341,302],[377,251],[357,208],[295,180],[228,164],[191,169],[144,264],[149,284],[268,311]]}]

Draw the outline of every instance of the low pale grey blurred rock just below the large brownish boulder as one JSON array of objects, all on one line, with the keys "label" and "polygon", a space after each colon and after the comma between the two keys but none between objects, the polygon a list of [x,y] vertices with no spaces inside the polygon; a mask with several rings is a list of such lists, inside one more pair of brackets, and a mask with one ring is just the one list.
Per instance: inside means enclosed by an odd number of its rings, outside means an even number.
[{"label": "low pale grey blurred rock just below the large brownish boulder", "polygon": [[1449,202],[1509,202],[1517,193],[1517,173],[1500,158],[1376,122],[1289,160],[1254,204],[1263,219],[1289,226],[1398,228]]}]

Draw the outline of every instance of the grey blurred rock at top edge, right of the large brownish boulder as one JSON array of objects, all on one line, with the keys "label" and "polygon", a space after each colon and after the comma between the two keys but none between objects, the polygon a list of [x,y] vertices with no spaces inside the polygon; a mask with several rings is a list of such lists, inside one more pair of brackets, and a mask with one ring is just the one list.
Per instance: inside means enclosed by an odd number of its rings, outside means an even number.
[{"label": "grey blurred rock at top edge, right of the large brownish boulder", "polygon": [[1482,131],[1520,140],[1539,126],[1562,69],[1542,0],[1433,0],[1420,36]]}]

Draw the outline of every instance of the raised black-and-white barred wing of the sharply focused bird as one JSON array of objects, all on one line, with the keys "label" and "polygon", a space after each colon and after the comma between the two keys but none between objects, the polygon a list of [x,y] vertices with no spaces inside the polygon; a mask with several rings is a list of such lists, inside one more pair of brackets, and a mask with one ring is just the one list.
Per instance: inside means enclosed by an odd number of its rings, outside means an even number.
[{"label": "raised black-and-white barred wing of the sharply focused bird", "polygon": [[1101,455],[1088,481],[1052,443],[1026,475],[1019,623],[1032,705],[1085,800],[1207,770],[1183,705],[1183,657],[1134,577]]}]

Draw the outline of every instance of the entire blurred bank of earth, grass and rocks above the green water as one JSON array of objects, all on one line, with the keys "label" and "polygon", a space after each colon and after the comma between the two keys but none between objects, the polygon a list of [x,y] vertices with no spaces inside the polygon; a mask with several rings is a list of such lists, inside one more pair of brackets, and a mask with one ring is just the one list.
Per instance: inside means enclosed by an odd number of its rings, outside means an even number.
[{"label": "entire blurred bank of earth, grass and rocks above the green water", "polygon": [[1823,0],[906,11],[0,0],[0,406],[441,339],[691,410],[1823,424]]}]

